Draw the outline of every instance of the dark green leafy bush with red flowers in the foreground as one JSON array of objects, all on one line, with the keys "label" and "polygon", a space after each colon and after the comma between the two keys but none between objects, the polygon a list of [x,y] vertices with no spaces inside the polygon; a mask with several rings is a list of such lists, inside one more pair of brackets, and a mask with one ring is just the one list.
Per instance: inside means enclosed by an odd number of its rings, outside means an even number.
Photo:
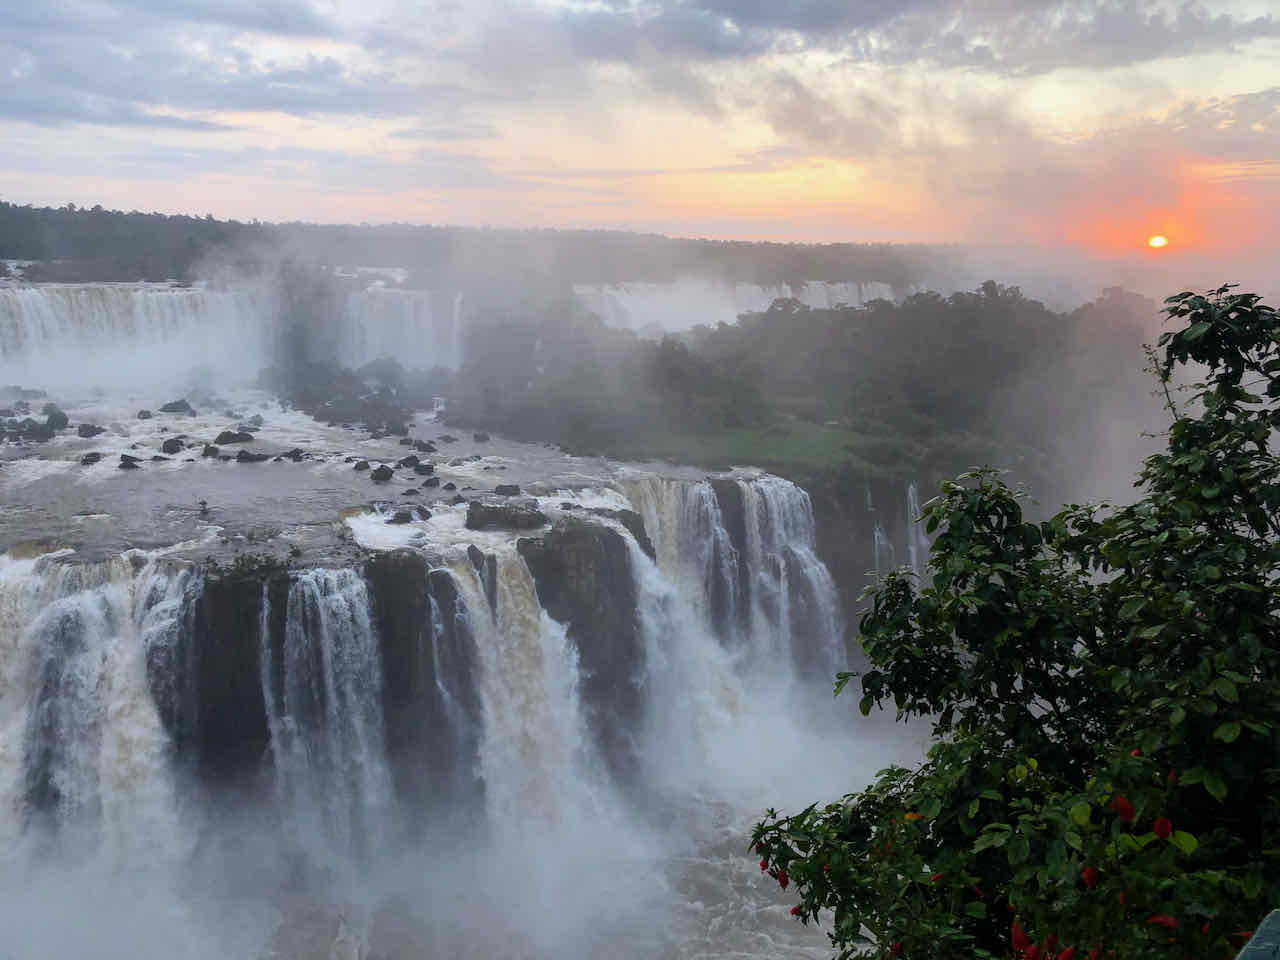
[{"label": "dark green leafy bush with red flowers in the foreground", "polygon": [[1166,312],[1142,499],[1029,524],[974,471],[923,509],[928,577],[870,591],[836,692],[931,718],[928,758],[753,835],[840,957],[1217,960],[1280,902],[1280,317]]}]

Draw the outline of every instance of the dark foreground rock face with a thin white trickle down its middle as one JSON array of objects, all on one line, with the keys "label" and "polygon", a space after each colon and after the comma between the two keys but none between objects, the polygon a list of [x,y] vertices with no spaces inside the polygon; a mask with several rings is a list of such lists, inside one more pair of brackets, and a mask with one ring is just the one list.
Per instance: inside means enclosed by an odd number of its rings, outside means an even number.
[{"label": "dark foreground rock face with a thin white trickle down its middle", "polygon": [[387,755],[403,809],[480,809],[475,652],[453,577],[430,571],[421,554],[392,550],[369,559],[365,580],[381,655]]}]

